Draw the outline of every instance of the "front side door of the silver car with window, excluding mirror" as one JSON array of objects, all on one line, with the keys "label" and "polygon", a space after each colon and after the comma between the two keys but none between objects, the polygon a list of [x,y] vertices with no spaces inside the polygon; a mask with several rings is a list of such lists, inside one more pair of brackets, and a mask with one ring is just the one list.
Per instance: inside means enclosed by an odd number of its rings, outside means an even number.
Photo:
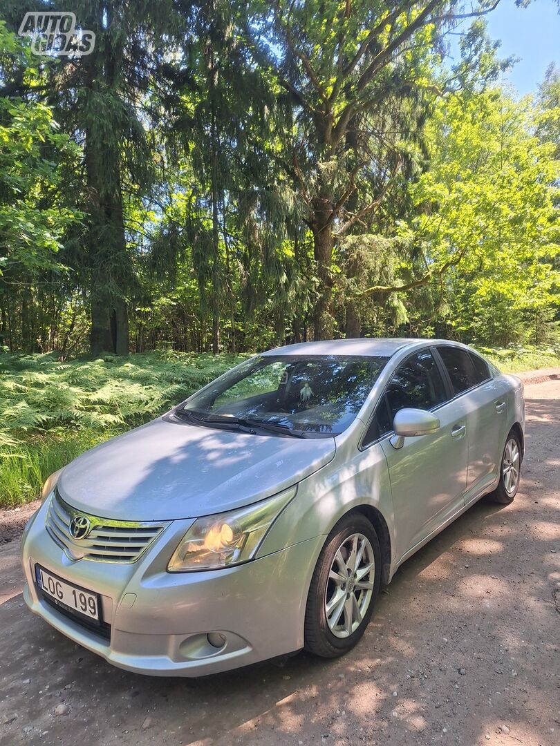
[{"label": "front side door of the silver car with window, excluding mirror", "polygon": [[[466,421],[448,401],[449,389],[432,352],[409,356],[388,383],[370,425],[387,459],[399,559],[463,507],[467,483]],[[391,445],[393,418],[404,407],[433,411],[440,429]]]}]

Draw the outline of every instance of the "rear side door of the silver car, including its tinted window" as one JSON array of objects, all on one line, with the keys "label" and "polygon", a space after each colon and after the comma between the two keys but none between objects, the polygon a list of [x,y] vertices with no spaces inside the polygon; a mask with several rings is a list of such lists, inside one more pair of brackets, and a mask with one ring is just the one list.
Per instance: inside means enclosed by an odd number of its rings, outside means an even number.
[{"label": "rear side door of the silver car, including its tinted window", "polygon": [[492,377],[488,364],[476,353],[451,345],[436,349],[447,370],[456,406],[467,419],[468,504],[498,475],[507,434],[505,384]]}]

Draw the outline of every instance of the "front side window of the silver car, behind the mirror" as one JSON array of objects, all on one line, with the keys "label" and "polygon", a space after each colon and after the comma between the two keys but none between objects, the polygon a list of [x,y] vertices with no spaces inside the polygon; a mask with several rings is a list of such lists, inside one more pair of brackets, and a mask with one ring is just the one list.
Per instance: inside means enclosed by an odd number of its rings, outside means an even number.
[{"label": "front side window of the silver car, behind the mirror", "polygon": [[393,419],[407,408],[431,410],[447,400],[444,380],[429,350],[411,355],[396,370],[368,428],[364,445],[393,430]]}]

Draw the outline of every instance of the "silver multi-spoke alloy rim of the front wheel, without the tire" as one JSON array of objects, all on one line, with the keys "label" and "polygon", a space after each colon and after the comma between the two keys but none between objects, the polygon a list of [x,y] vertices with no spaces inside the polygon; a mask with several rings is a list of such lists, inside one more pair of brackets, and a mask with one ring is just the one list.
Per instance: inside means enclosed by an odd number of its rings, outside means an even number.
[{"label": "silver multi-spoke alloy rim of the front wheel, without the tire", "polygon": [[325,592],[325,615],[335,637],[349,637],[361,624],[375,583],[373,547],[363,533],[348,536],[335,552]]}]

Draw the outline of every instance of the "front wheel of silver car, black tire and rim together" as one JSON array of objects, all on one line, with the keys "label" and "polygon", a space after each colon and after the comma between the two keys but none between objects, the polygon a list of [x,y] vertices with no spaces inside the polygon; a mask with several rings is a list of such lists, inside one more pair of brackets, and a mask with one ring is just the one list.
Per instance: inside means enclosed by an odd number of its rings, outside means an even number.
[{"label": "front wheel of silver car, black tire and rim together", "polygon": [[[358,556],[357,566],[352,555],[354,559]],[[331,571],[338,580],[333,580]],[[311,578],[305,650],[323,658],[336,658],[351,650],[373,614],[380,582],[381,550],[376,531],[364,515],[349,513],[327,536]]]}]

